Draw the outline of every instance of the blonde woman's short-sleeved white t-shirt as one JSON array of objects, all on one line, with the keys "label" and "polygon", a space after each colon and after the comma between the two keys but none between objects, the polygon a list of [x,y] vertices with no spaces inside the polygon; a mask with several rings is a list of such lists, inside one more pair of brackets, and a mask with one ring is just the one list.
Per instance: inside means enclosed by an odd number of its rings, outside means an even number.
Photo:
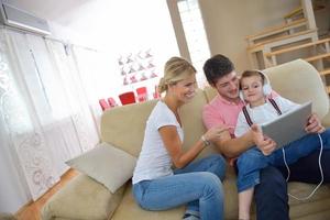
[{"label": "blonde woman's short-sleeved white t-shirt", "polygon": [[174,112],[163,101],[158,101],[146,121],[142,150],[133,174],[133,184],[173,175],[172,158],[158,132],[158,129],[165,125],[175,125],[183,142],[184,131]]}]

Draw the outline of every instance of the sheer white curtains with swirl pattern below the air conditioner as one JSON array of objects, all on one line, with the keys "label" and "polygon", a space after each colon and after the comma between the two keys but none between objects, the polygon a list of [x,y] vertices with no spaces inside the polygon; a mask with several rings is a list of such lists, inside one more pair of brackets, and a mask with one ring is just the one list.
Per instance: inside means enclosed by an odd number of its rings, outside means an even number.
[{"label": "sheer white curtains with swirl pattern below the air conditioner", "polygon": [[24,177],[20,188],[29,187],[28,195],[35,200],[67,170],[65,161],[99,141],[99,113],[88,101],[69,47],[0,32],[1,138],[7,136],[0,140],[0,154],[10,152],[9,161],[15,162],[8,166]]}]

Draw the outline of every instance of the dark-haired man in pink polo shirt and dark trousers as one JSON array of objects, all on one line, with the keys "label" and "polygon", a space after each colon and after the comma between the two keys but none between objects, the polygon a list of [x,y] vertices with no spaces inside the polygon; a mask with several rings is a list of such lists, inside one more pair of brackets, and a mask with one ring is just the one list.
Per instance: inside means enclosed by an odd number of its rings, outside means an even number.
[{"label": "dark-haired man in pink polo shirt and dark trousers", "polygon": [[[239,77],[233,63],[223,55],[216,55],[205,63],[204,72],[208,82],[218,91],[218,96],[204,108],[204,123],[207,129],[218,124],[229,128],[228,132],[223,132],[221,139],[216,143],[220,152],[228,158],[234,158],[242,152],[257,145],[265,154],[272,153],[276,143],[271,139],[255,139],[256,134],[260,133],[257,128],[253,128],[241,138],[234,138],[234,127],[244,103],[239,98]],[[306,130],[311,133],[323,130],[316,114],[309,118]],[[292,165],[290,180],[318,183],[320,180],[317,163],[318,153],[315,152],[312,155],[300,158]],[[330,151],[324,151],[322,161],[328,160],[330,160]],[[329,163],[322,163],[322,165],[324,183],[330,183]],[[285,168],[277,169],[271,166],[261,172],[260,184],[256,185],[254,193],[257,219],[289,219],[285,172]]]}]

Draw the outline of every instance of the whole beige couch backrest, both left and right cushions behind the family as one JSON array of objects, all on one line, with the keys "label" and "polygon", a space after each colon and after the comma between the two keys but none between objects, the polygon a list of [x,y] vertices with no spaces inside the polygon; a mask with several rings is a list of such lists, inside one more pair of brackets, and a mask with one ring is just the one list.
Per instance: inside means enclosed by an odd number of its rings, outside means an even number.
[{"label": "whole beige couch backrest, both left and right cushions behind the family", "polygon": [[[283,97],[296,102],[311,100],[314,111],[323,117],[329,109],[329,98],[318,72],[307,62],[297,59],[265,69],[272,87]],[[185,141],[184,148],[191,146],[206,132],[201,120],[202,107],[217,91],[210,87],[198,89],[194,99],[182,107]],[[116,107],[105,111],[101,118],[101,141],[122,148],[133,156],[139,156],[144,136],[145,122],[156,100]],[[212,151],[207,147],[198,157]]]}]

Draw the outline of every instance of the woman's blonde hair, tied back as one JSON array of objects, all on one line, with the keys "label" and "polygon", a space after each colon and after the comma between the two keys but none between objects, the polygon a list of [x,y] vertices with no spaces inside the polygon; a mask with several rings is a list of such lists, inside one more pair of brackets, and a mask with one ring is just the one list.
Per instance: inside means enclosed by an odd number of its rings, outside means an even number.
[{"label": "woman's blonde hair, tied back", "polygon": [[196,74],[196,69],[188,61],[180,57],[172,57],[165,64],[164,77],[161,78],[158,84],[160,94],[166,91],[168,85],[186,79],[191,74]]}]

